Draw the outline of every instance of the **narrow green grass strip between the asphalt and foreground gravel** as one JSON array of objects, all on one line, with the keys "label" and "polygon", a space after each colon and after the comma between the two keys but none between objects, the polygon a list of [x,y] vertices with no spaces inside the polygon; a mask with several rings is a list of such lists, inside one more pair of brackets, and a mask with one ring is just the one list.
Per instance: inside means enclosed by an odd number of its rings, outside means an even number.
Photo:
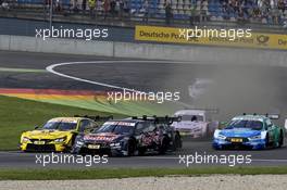
[{"label": "narrow green grass strip between the asphalt and foreground gravel", "polygon": [[127,177],[202,176],[213,174],[287,174],[287,167],[100,168],[100,169],[1,169],[0,180],[107,179]]}]

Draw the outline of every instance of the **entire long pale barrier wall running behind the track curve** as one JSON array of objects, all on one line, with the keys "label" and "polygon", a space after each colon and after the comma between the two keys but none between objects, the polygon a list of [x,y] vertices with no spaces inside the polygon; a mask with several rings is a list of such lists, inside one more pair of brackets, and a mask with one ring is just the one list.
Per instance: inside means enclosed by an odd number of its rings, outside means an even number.
[{"label": "entire long pale barrier wall running behind the track curve", "polygon": [[197,64],[259,64],[287,66],[287,52],[203,46],[174,46],[75,39],[1,36],[0,50],[87,54],[150,60],[174,60]]}]

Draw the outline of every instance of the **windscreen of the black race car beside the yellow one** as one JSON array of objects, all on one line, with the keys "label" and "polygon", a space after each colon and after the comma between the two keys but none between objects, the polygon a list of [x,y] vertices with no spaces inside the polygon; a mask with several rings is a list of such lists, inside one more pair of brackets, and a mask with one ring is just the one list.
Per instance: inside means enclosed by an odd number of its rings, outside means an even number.
[{"label": "windscreen of the black race car beside the yellow one", "polygon": [[96,134],[99,132],[114,132],[114,134],[132,134],[134,131],[134,126],[132,125],[121,125],[121,124],[103,124]]}]

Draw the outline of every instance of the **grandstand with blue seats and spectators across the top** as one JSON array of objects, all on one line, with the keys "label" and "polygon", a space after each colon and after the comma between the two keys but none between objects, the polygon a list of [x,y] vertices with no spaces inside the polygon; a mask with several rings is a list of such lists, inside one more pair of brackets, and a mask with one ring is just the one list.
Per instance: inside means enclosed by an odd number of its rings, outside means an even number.
[{"label": "grandstand with blue seats and spectators across the top", "polygon": [[[152,23],[166,17],[166,4],[170,4],[174,23],[190,24],[192,20],[192,23],[287,25],[287,0],[52,0],[53,16],[88,18],[92,1],[97,20],[141,21],[147,17]],[[0,12],[47,16],[50,3],[51,0],[0,0]]]}]

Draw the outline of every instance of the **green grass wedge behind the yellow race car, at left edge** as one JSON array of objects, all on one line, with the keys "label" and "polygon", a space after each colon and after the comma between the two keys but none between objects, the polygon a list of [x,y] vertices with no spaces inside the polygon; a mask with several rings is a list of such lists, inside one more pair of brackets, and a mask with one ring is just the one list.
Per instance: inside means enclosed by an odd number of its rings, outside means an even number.
[{"label": "green grass wedge behind the yellow race car, at left edge", "polygon": [[[0,150],[16,150],[23,130],[34,129],[57,116],[111,115],[73,106],[0,96]],[[121,115],[114,115],[115,117]]]}]

